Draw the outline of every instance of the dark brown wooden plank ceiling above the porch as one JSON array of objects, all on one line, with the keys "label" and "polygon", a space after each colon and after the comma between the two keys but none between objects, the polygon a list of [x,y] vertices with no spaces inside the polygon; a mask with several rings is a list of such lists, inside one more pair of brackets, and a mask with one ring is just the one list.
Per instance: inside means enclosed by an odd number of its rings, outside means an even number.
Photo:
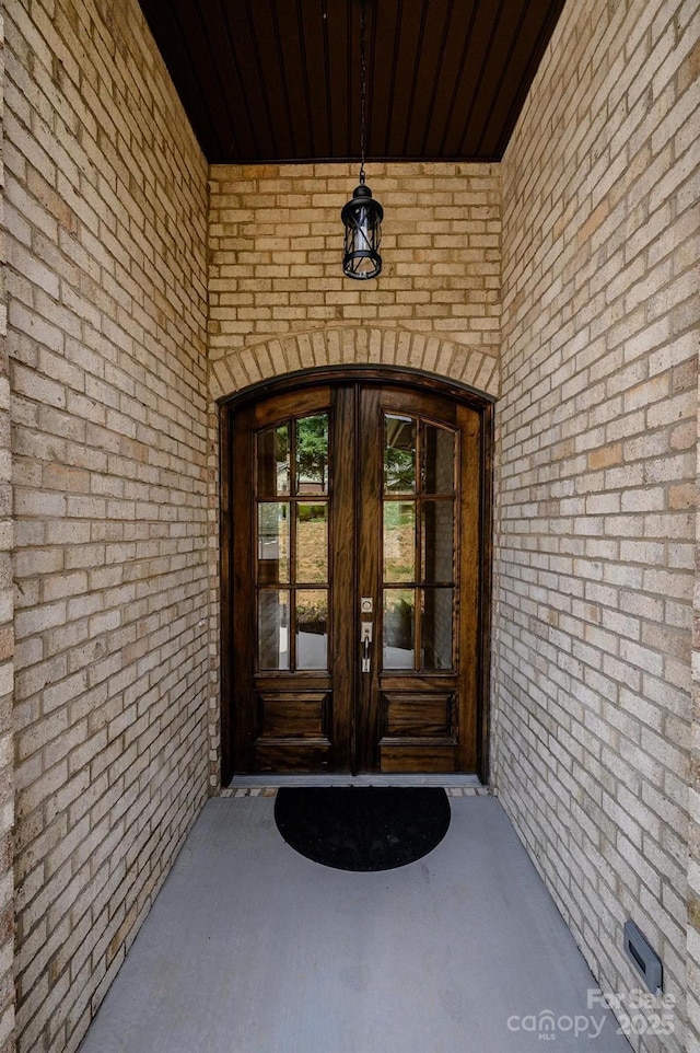
[{"label": "dark brown wooden plank ceiling above the porch", "polygon": [[[368,160],[498,161],[564,0],[365,0]],[[141,0],[212,163],[360,157],[361,0]]]}]

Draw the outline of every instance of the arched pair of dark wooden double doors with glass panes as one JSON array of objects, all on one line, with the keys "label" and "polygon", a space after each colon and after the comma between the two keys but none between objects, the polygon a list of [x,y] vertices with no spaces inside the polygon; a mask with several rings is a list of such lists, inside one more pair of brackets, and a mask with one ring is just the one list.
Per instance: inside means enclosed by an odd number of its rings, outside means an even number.
[{"label": "arched pair of dark wooden double doors with glass panes", "polygon": [[483,427],[369,380],[231,415],[235,773],[477,771]]}]

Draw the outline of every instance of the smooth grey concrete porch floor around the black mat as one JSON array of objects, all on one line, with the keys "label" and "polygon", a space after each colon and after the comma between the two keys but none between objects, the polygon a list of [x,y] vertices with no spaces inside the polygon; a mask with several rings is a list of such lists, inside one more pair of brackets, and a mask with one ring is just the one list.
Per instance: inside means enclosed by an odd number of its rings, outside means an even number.
[{"label": "smooth grey concrete porch floor around the black mat", "polygon": [[455,792],[376,873],[298,855],[272,797],[208,801],[80,1053],[629,1053],[498,800]]}]

